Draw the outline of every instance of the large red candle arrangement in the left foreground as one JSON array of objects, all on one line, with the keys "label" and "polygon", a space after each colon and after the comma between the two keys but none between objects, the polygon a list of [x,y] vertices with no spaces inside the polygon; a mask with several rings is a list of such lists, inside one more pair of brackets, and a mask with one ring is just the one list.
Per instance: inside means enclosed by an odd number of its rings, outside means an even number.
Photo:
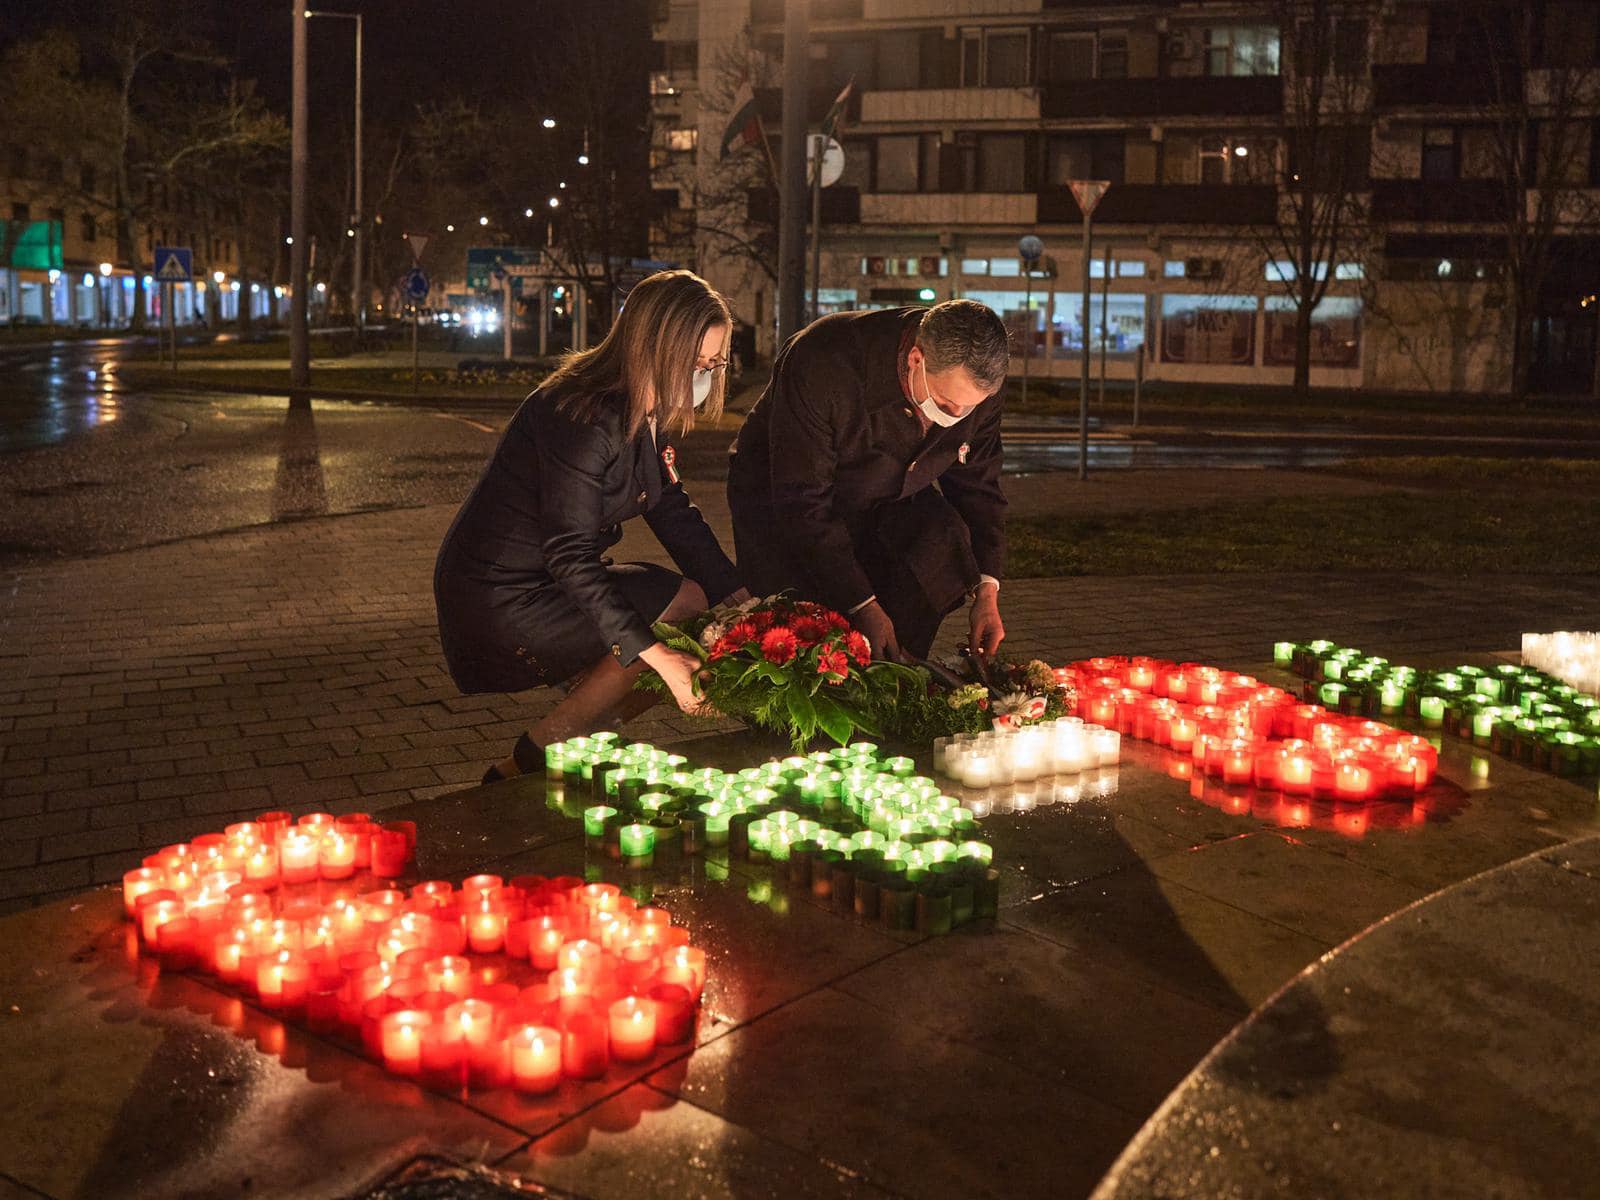
[{"label": "large red candle arrangement in the left foreground", "polygon": [[123,906],[163,968],[214,974],[430,1086],[547,1093],[690,1040],[706,952],[662,909],[571,877],[386,886],[414,848],[408,821],[267,813],[152,854]]}]

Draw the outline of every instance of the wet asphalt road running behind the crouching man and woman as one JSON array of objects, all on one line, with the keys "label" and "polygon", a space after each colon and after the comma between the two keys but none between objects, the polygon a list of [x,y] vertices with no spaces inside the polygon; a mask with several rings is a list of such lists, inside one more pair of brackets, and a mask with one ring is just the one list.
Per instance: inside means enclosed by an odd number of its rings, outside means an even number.
[{"label": "wet asphalt road running behind the crouching man and woman", "polygon": [[[323,402],[149,394],[118,382],[126,341],[0,346],[0,566],[146,546],[275,520],[458,502],[514,402]],[[1437,429],[1432,426],[1430,429]],[[685,443],[685,475],[726,472],[726,429]],[[1090,470],[1306,467],[1352,454],[1563,454],[1600,440],[1349,427],[1091,429]],[[1078,467],[1075,422],[1006,426],[1016,474]]]}]

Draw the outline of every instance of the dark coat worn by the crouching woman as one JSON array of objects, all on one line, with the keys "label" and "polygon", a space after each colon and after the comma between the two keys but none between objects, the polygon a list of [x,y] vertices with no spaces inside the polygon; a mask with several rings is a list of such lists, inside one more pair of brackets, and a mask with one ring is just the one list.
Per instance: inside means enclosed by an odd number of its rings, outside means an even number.
[{"label": "dark coat worn by the crouching woman", "polygon": [[[560,587],[622,666],[656,640],[606,576],[603,555],[622,522],[643,514],[712,602],[741,587],[717,534],[662,470],[662,456],[677,453],[667,432],[653,440],[645,424],[630,438],[626,418],[621,394],[603,397],[592,421],[573,421],[544,392],[530,395],[438,552],[438,576],[458,594]],[[485,630],[474,634],[482,642]]]}]

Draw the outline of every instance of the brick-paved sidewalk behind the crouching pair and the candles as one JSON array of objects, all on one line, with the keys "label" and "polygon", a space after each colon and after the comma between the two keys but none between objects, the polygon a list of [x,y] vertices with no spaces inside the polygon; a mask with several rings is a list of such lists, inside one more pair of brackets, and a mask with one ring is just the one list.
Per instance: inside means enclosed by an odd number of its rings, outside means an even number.
[{"label": "brick-paved sidewalk behind the crouching pair and the candles", "polygon": [[[1123,472],[1077,502],[1192,501],[1242,477],[1262,501],[1274,483],[1306,486],[1291,474],[1187,475]],[[1019,510],[1067,486],[1018,483]],[[699,496],[731,544],[720,490]],[[552,699],[461,696],[446,677],[430,589],[453,510],[291,522],[0,574],[0,907],[115,880],[154,848],[266,808],[371,811],[477,782]],[[618,557],[661,552],[635,531]],[[1248,667],[1280,637],[1411,658],[1507,650],[1523,630],[1592,619],[1597,584],[1016,579],[1002,611],[1016,653]],[[962,632],[952,619],[944,640]],[[629,733],[707,728],[658,707]]]}]

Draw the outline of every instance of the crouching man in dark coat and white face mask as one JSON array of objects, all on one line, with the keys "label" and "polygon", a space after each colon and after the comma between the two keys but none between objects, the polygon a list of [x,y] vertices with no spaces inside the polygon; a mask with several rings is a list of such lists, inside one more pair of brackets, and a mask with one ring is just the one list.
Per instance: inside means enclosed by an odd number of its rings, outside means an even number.
[{"label": "crouching man in dark coat and white face mask", "polygon": [[926,658],[971,598],[971,645],[995,653],[1008,358],[1005,326],[976,301],[842,312],[795,334],[728,470],[750,590],[848,614],[878,658]]}]

